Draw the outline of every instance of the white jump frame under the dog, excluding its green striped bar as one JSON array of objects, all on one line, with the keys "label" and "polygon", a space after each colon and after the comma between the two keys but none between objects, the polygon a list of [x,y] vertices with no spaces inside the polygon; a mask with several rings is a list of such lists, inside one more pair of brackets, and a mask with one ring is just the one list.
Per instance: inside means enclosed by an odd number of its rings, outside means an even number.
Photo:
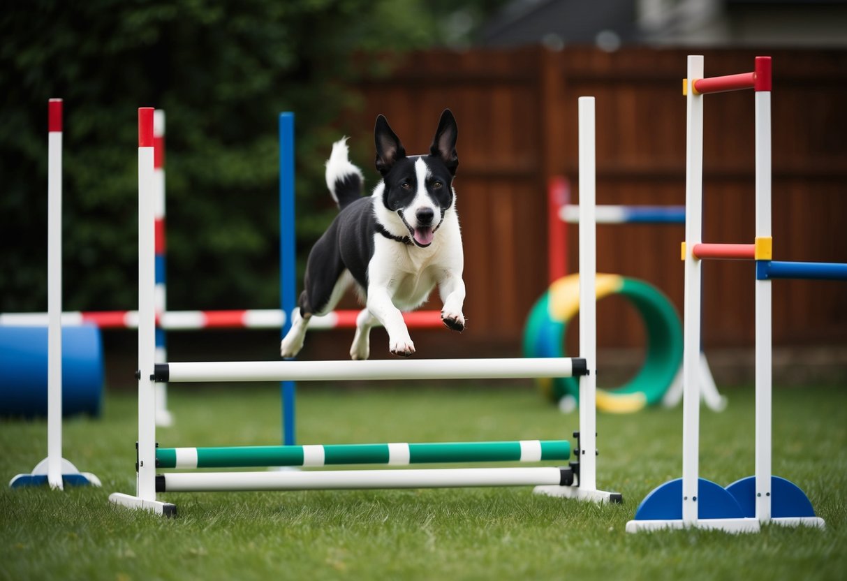
[{"label": "white jump frame under the dog, excluding its green striped bar", "polygon": [[[138,463],[136,495],[113,493],[119,506],[165,515],[175,506],[158,492],[205,490],[306,490],[358,488],[441,488],[534,485],[539,494],[579,500],[621,501],[596,489],[595,409],[595,222],[594,97],[579,99],[580,353],[577,358],[453,359],[332,362],[171,362],[154,363],[152,108],[139,109],[139,321]],[[567,468],[449,468],[313,472],[233,472],[156,474],[155,393],[157,382],[290,381],[349,379],[580,378],[579,462]]]}]

